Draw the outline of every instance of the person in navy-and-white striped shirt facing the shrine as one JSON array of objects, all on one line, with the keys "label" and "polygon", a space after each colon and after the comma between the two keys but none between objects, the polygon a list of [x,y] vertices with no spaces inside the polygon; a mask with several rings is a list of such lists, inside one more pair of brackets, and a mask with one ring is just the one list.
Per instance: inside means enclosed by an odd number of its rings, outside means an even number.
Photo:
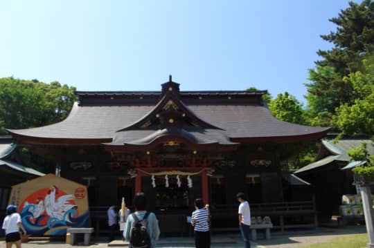
[{"label": "person in navy-and-white striped shirt facing the shrine", "polygon": [[195,200],[195,209],[191,217],[191,224],[195,230],[195,246],[196,248],[209,248],[211,247],[211,216],[208,205],[204,207],[202,198],[197,198]]}]

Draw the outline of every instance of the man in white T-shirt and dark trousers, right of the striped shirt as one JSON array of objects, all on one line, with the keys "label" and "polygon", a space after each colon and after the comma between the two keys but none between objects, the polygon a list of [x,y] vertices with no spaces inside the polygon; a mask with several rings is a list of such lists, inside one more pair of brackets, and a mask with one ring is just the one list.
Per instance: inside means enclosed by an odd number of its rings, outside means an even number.
[{"label": "man in white T-shirt and dark trousers, right of the striped shirt", "polygon": [[238,201],[240,202],[238,211],[240,232],[242,233],[245,248],[250,248],[251,242],[249,240],[249,227],[251,226],[251,209],[244,193],[240,192],[236,194],[236,198],[238,198]]}]

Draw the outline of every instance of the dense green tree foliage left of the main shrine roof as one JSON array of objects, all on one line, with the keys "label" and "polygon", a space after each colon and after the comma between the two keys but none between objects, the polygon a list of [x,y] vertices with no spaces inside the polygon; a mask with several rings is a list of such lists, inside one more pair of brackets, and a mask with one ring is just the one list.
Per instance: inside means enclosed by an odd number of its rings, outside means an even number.
[{"label": "dense green tree foliage left of the main shrine roof", "polygon": [[0,78],[0,131],[31,128],[64,120],[75,101],[74,87],[59,82]]}]

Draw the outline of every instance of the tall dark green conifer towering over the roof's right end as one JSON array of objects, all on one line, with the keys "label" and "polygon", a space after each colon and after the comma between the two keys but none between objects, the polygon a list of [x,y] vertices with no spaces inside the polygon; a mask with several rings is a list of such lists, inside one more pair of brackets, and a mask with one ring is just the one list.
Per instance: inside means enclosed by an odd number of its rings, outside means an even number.
[{"label": "tall dark green conifer towering over the roof's right end", "polygon": [[[344,77],[362,70],[362,61],[374,53],[374,2],[349,2],[349,7],[330,19],[337,25],[335,32],[321,35],[332,43],[330,50],[319,50],[322,57],[317,67],[309,71],[310,84],[305,84],[308,94],[308,111],[315,124],[330,122],[341,104],[355,103],[355,94],[350,82]],[[326,113],[323,113],[326,112]],[[323,113],[321,115],[321,113]],[[330,113],[330,114],[328,114]]]}]

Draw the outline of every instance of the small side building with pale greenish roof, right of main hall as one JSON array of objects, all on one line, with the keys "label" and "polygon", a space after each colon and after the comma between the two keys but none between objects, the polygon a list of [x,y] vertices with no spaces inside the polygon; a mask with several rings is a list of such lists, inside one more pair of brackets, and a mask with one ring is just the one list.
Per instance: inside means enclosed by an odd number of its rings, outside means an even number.
[{"label": "small side building with pale greenish roof, right of main hall", "polygon": [[326,140],[321,142],[315,162],[294,172],[314,186],[321,221],[330,220],[332,215],[339,214],[342,195],[357,193],[353,185],[352,171],[344,169],[351,163],[348,151],[365,142],[368,153],[374,154],[373,142],[368,137],[342,137],[334,142],[335,137],[336,135],[328,135]]}]

